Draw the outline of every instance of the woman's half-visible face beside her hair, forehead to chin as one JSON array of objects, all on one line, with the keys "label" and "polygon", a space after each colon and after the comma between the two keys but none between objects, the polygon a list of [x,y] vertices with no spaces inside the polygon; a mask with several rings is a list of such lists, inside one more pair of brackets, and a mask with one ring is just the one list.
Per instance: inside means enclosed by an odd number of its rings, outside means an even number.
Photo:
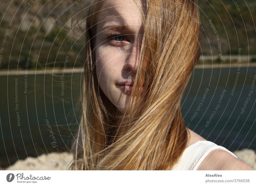
[{"label": "woman's half-visible face beside her hair, forehead to chin", "polygon": [[143,35],[140,12],[133,0],[105,0],[96,21],[93,67],[104,94],[124,113],[138,68]]}]

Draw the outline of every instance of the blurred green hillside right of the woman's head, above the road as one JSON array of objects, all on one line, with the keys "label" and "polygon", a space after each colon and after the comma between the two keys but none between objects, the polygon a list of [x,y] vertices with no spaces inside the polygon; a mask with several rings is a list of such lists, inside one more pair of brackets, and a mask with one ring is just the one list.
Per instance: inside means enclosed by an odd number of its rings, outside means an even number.
[{"label": "blurred green hillside right of the woman's head, above the road", "polygon": [[255,0],[203,0],[199,1],[199,8],[203,26],[204,55],[218,54],[218,42],[209,19],[220,36],[224,55],[237,55],[238,48],[241,48],[241,55],[256,54]]}]

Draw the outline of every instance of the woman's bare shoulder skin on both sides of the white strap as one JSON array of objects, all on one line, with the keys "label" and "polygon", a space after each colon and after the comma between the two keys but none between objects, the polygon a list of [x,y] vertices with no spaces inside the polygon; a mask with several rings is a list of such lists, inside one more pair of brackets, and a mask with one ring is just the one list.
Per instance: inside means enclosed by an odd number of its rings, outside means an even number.
[{"label": "woman's bare shoulder skin on both sides of the white strap", "polygon": [[[188,128],[188,143],[189,146],[195,145],[196,142],[205,141],[210,145],[214,144],[210,141],[207,141],[202,136],[196,134],[194,131]],[[201,142],[200,142],[201,143]],[[208,144],[204,143],[204,144]],[[198,144],[198,143],[197,143]],[[191,147],[192,147],[191,146]],[[244,163],[243,161],[236,158],[230,153],[230,151],[225,148],[217,148],[211,150],[204,160],[200,163],[196,170],[253,170],[252,167]]]}]

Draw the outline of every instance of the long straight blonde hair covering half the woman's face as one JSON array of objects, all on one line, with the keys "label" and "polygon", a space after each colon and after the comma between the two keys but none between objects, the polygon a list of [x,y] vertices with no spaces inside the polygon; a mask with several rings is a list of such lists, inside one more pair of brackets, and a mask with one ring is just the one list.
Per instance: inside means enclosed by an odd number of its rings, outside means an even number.
[{"label": "long straight blonde hair covering half the woman's face", "polygon": [[[76,16],[85,23],[83,113],[71,170],[172,169],[188,143],[180,102],[199,58],[201,25],[196,0],[146,0],[138,70],[125,115],[113,120],[113,103],[99,88],[93,53],[97,0]],[[141,9],[141,3],[136,3]],[[129,7],[128,7],[129,8]],[[141,9],[142,12],[142,9]],[[141,93],[140,87],[145,91]],[[99,90],[98,90],[99,89]],[[104,109],[108,112],[106,113]],[[112,134],[110,127],[118,123]],[[122,127],[121,127],[122,126]],[[110,137],[113,138],[110,140]]]}]

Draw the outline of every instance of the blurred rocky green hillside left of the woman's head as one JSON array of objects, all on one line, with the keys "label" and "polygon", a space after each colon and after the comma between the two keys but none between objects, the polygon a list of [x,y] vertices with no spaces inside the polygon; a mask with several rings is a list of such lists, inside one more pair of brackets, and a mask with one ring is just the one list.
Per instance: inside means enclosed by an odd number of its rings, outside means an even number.
[{"label": "blurred rocky green hillside left of the woman's head", "polygon": [[[76,35],[70,32],[70,18],[78,10],[79,2],[38,0],[31,6],[29,2],[33,1],[0,3],[0,43],[6,28],[10,28],[0,69],[25,69],[28,57],[28,69],[62,68],[66,56],[67,67],[83,66],[83,40],[76,41]],[[80,50],[82,54],[78,55]]]}]

